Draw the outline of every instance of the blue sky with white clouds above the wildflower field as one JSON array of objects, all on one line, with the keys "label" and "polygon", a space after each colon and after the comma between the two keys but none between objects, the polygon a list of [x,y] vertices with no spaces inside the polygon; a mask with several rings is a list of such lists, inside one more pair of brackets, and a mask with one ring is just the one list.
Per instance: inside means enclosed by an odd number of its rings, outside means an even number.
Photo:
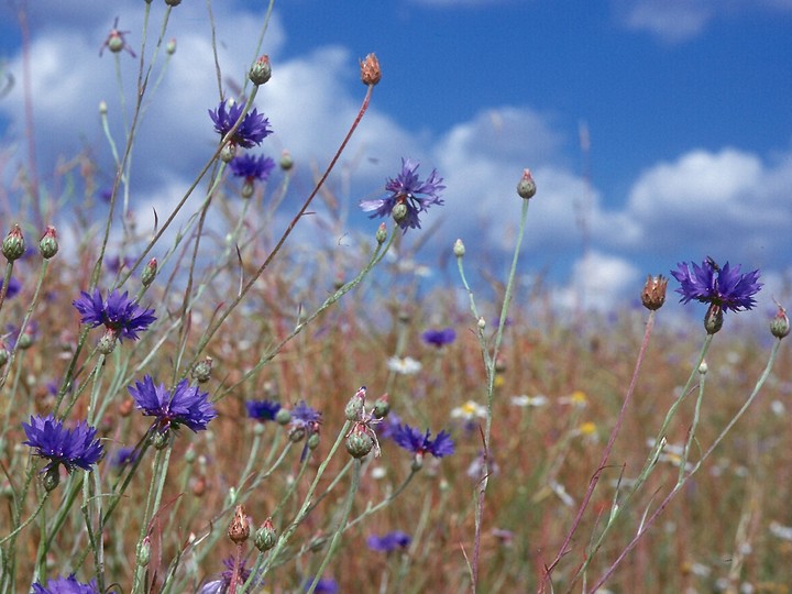
[{"label": "blue sky with white clouds above the wildflower field", "polygon": [[[107,100],[112,114],[119,102],[99,47],[116,16],[138,46],[143,2],[30,4],[46,172],[58,154],[103,146],[96,106]],[[153,2],[155,22],[162,4]],[[227,77],[239,80],[253,58],[265,8],[213,2]],[[21,81],[8,2],[0,23],[0,56]],[[206,118],[218,91],[205,2],[185,0],[169,26],[178,50],[138,152],[141,212],[172,202],[217,140]],[[607,305],[647,273],[705,255],[761,267],[769,299],[792,277],[790,32],[790,0],[289,0],[275,3],[264,43],[274,75],[256,105],[275,129],[265,150],[324,164],[364,92],[358,61],[375,52],[383,80],[346,153],[351,183],[336,187],[353,207],[403,155],[425,174],[437,167],[447,205],[426,218],[438,230],[425,260],[458,237],[470,266],[476,255],[481,266],[497,260],[530,167],[539,191],[522,271],[547,274],[559,302],[585,287],[590,305]],[[138,63],[121,62],[131,84]],[[0,100],[0,119],[10,145],[23,130],[21,85]],[[350,224],[371,223],[353,212]]]}]

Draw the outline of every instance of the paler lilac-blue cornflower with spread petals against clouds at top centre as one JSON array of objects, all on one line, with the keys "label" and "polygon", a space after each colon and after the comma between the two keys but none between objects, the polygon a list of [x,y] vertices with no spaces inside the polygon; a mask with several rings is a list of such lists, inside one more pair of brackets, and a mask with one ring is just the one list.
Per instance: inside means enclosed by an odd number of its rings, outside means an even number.
[{"label": "paler lilac-blue cornflower with spread petals against clouds at top centre", "polygon": [[[418,163],[409,158],[402,158],[402,172],[396,179],[388,178],[385,189],[391,194],[377,200],[361,200],[360,207],[366,211],[374,211],[369,216],[388,217],[394,215],[394,220],[407,232],[407,229],[420,229],[418,216],[426,212],[431,205],[442,205],[443,200],[438,193],[446,189],[442,185],[442,177],[438,176],[437,169],[432,169],[426,182],[418,178]],[[402,205],[403,211],[394,212],[394,208]]]}]

